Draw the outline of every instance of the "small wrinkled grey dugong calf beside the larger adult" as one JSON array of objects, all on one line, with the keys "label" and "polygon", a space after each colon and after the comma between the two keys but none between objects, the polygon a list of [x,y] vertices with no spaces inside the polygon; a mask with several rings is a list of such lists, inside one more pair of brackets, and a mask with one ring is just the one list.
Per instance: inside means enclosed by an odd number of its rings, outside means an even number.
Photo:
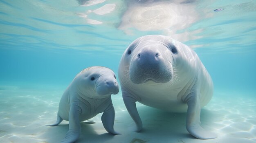
[{"label": "small wrinkled grey dugong calf beside the larger adult", "polygon": [[82,70],[67,87],[58,107],[56,126],[61,121],[69,121],[69,130],[62,143],[76,141],[81,133],[81,121],[91,119],[104,112],[101,117],[104,128],[117,133],[114,128],[115,110],[111,94],[117,94],[119,86],[115,73],[109,68],[93,66]]}]

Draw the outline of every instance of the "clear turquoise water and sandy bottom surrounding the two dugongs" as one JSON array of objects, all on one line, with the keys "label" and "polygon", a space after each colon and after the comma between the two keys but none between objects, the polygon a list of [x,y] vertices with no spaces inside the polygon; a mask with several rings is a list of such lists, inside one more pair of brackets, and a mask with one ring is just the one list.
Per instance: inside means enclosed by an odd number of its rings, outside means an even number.
[{"label": "clear turquoise water and sandy bottom surrounding the two dugongs", "polygon": [[117,74],[127,46],[149,34],[173,37],[200,57],[215,87],[201,121],[218,138],[193,139],[186,114],[141,104],[145,130],[129,131],[132,119],[119,92],[112,100],[122,135],[106,134],[98,115],[96,123],[82,123],[77,142],[256,142],[255,15],[254,0],[0,0],[0,142],[61,141],[68,122],[44,125],[55,121],[75,75],[89,66]]}]

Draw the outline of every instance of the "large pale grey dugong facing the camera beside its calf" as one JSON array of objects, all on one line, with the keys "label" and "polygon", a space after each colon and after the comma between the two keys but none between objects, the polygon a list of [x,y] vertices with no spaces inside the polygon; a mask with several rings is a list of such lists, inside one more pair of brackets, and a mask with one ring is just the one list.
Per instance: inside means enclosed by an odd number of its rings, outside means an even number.
[{"label": "large pale grey dugong facing the camera beside its calf", "polygon": [[121,57],[118,76],[126,108],[142,129],[136,101],[167,110],[187,112],[186,129],[198,139],[216,134],[200,126],[200,110],[213,95],[213,83],[198,55],[164,35],[146,35],[132,42]]}]

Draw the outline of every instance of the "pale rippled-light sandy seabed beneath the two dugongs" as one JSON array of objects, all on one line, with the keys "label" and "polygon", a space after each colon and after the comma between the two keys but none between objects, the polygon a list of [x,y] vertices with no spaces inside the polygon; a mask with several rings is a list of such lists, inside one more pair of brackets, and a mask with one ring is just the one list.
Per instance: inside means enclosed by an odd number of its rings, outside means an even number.
[{"label": "pale rippled-light sandy seabed beneath the two dugongs", "polygon": [[[56,127],[58,103],[65,88],[21,89],[0,88],[1,143],[59,143],[68,130],[68,122]],[[137,133],[121,94],[112,95],[115,107],[114,128],[121,135],[109,134],[101,123],[101,115],[81,122],[82,132],[76,143],[256,143],[256,98],[215,92],[202,108],[203,128],[218,138],[199,140],[185,127],[186,113],[169,113],[137,103],[144,129]]]}]

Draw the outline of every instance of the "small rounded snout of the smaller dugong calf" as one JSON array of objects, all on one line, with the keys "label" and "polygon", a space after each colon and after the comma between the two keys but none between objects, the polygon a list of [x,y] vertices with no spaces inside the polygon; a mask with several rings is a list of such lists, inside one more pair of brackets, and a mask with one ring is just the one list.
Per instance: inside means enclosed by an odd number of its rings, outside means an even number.
[{"label": "small rounded snout of the smaller dugong calf", "polygon": [[104,82],[101,82],[97,86],[97,94],[99,95],[108,95],[114,94],[116,95],[119,92],[119,86],[117,84],[117,80],[114,78],[105,79]]}]

